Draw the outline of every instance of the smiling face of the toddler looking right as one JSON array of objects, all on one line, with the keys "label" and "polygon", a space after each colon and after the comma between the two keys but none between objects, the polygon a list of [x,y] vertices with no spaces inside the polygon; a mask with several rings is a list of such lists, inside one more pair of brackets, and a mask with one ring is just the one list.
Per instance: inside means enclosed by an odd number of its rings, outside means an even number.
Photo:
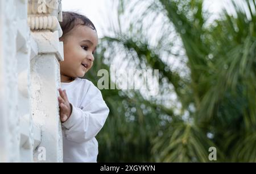
[{"label": "smiling face of the toddler looking right", "polygon": [[88,26],[76,26],[64,38],[64,61],[60,62],[61,77],[83,77],[92,68],[98,35]]}]

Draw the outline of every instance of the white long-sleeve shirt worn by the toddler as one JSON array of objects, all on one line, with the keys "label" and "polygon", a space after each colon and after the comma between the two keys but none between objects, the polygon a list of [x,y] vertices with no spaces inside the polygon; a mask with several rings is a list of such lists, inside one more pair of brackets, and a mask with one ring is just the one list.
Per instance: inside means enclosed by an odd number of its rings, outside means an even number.
[{"label": "white long-sleeve shirt worn by the toddler", "polygon": [[109,108],[101,92],[89,80],[76,78],[61,83],[72,105],[72,113],[62,123],[63,161],[97,162],[98,142],[95,136],[103,127]]}]

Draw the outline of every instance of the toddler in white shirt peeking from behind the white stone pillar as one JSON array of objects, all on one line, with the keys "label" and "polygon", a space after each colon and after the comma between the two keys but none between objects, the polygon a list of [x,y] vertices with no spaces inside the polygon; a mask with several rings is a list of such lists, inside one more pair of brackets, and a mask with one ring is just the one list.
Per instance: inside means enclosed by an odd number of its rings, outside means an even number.
[{"label": "toddler in white shirt peeking from behind the white stone pillar", "polygon": [[60,61],[61,89],[58,97],[63,129],[64,162],[97,162],[95,136],[109,114],[100,90],[81,79],[92,68],[98,36],[86,16],[63,12],[60,22],[64,61]]}]

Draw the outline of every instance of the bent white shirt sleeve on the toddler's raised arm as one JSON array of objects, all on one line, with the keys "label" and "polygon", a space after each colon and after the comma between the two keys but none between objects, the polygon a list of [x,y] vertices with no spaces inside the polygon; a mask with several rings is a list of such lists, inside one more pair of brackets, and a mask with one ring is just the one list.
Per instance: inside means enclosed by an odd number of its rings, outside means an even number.
[{"label": "bent white shirt sleeve on the toddler's raised arm", "polygon": [[81,143],[94,138],[104,126],[109,114],[109,108],[102,98],[100,90],[92,85],[84,100],[90,102],[84,104],[82,109],[72,105],[72,113],[67,121],[62,123],[64,135],[68,140]]}]

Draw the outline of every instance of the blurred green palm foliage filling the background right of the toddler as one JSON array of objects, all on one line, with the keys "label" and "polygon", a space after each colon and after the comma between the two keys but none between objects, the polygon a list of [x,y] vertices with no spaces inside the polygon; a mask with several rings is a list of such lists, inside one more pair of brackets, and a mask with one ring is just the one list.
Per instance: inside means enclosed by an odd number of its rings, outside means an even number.
[{"label": "blurred green palm foliage filling the background right of the toddler", "polygon": [[[256,162],[256,1],[230,1],[212,21],[203,1],[118,2],[119,26],[86,78],[97,85],[97,71],[119,59],[159,69],[161,91],[101,90],[110,114],[98,160],[203,162],[214,146],[217,161]],[[181,107],[163,100],[171,94]]]}]

